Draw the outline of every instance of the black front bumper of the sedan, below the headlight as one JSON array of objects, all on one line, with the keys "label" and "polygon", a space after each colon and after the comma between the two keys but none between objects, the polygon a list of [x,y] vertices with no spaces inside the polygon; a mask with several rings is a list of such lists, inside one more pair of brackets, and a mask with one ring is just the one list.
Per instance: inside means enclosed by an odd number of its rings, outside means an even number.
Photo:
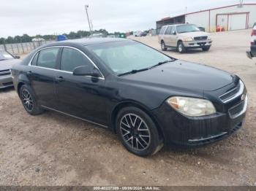
[{"label": "black front bumper of the sedan, below the headlight", "polygon": [[[243,94],[246,94],[246,90]],[[223,107],[226,107],[225,111],[203,117],[187,117],[176,112],[167,103],[152,112],[162,129],[167,146],[176,144],[196,147],[225,139],[241,128],[246,116],[246,106],[246,99],[241,100],[239,96],[234,101],[223,104]],[[238,111],[240,108],[241,111]],[[238,112],[237,115],[233,115],[235,117],[231,115],[234,111]]]}]

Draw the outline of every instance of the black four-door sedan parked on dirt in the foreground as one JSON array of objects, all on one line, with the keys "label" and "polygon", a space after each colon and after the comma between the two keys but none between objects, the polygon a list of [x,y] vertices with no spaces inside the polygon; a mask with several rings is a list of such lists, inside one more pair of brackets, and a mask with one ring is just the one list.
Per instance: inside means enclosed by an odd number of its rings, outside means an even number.
[{"label": "black four-door sedan parked on dirt in the foreground", "polygon": [[223,139],[246,114],[246,87],[236,75],[128,39],[47,44],[15,65],[12,76],[29,114],[53,110],[109,128],[140,156],[164,144]]}]

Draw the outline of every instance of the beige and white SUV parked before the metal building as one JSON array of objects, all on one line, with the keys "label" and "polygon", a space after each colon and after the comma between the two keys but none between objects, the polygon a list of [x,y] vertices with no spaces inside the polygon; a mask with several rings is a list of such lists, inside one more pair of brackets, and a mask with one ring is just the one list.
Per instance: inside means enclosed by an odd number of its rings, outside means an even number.
[{"label": "beige and white SUV parked before the metal building", "polygon": [[208,51],[211,47],[210,34],[200,31],[200,29],[192,24],[177,24],[162,26],[158,42],[161,44],[162,50],[168,47],[176,47],[178,52],[183,53],[188,49],[201,48]]}]

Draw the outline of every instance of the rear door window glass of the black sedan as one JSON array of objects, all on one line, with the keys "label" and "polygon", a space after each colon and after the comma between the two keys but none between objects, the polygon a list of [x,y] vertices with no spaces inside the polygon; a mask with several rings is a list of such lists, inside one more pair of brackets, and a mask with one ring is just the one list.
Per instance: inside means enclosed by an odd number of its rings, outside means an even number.
[{"label": "rear door window glass of the black sedan", "polygon": [[59,47],[52,47],[39,52],[37,66],[55,69]]}]

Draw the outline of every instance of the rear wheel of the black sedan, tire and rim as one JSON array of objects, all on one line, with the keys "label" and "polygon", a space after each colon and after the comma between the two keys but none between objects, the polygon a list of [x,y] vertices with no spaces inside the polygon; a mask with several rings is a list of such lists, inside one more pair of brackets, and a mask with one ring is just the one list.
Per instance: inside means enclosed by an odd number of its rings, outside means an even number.
[{"label": "rear wheel of the black sedan, tire and rim", "polygon": [[29,85],[22,85],[19,95],[26,112],[31,115],[42,114],[42,112],[44,112],[44,110],[38,106],[34,93]]}]

